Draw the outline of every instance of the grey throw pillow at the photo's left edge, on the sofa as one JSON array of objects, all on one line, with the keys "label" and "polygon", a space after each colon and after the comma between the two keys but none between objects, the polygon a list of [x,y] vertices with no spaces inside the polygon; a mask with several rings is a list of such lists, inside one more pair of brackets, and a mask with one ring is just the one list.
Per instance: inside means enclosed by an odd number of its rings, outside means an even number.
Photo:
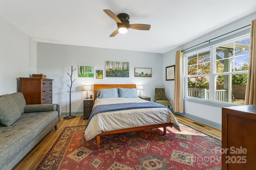
[{"label": "grey throw pillow at the photo's left edge, on the sofa", "polygon": [[0,97],[0,123],[10,127],[12,123],[20,118],[20,110],[14,102],[12,96],[4,95]]}]

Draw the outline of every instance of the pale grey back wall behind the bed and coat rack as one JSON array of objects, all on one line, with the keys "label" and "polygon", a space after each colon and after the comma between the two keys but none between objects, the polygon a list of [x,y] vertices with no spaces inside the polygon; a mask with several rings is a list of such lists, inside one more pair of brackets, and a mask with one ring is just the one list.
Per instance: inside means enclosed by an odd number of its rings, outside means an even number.
[{"label": "pale grey back wall behind the bed and coat rack", "polygon": [[[105,61],[130,62],[130,77],[106,78]],[[141,95],[151,97],[152,101],[154,88],[163,86],[163,54],[38,43],[37,73],[54,79],[53,102],[61,104],[62,112],[69,112],[69,88],[66,84],[70,84],[67,72],[71,72],[72,65],[76,68],[73,74],[76,80],[72,87],[72,112],[83,111],[83,99],[86,97],[86,91],[82,91],[83,85],[92,85],[89,96],[93,94],[93,84],[142,84],[144,90],[141,90]],[[94,66],[94,78],[78,78],[79,65]],[[152,68],[152,78],[134,77],[134,67]],[[95,70],[103,70],[103,79],[95,78]]]}]

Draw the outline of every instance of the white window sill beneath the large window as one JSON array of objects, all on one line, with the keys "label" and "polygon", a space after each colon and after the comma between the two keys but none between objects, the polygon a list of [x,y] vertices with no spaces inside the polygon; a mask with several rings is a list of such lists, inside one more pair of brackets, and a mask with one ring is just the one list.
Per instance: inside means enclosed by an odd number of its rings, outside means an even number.
[{"label": "white window sill beneath the large window", "polygon": [[214,101],[208,101],[208,100],[203,100],[203,99],[194,99],[194,98],[184,98],[184,101],[194,102],[194,103],[204,104],[204,105],[214,106],[214,107],[242,106],[241,104],[233,104],[233,103],[227,103],[227,102],[214,102]]}]

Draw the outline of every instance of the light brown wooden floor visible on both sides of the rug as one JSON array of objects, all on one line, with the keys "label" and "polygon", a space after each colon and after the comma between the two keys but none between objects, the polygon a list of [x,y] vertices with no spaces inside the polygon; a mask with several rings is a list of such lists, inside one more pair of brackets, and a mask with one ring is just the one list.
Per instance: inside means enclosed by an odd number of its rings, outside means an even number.
[{"label": "light brown wooden floor visible on both sides of the rug", "polygon": [[[221,131],[218,129],[215,129],[213,127],[204,125],[202,123],[196,122],[192,119],[182,117],[180,115],[175,115],[177,120],[189,125],[190,127],[193,127],[195,129],[198,129],[199,131],[202,131],[203,133],[206,133],[208,135],[211,135],[217,139],[221,139]],[[44,156],[47,154],[47,152],[50,150],[54,142],[58,139],[60,133],[64,130],[65,127],[68,126],[77,126],[77,125],[86,125],[88,120],[83,120],[83,116],[79,115],[74,119],[61,119],[61,121],[57,125],[57,130],[55,131],[52,129],[38,145],[36,145],[14,168],[14,170],[33,170],[36,169],[37,166],[40,164]],[[193,122],[199,123],[201,125],[204,125],[205,127],[201,127],[199,125],[194,124]]]}]

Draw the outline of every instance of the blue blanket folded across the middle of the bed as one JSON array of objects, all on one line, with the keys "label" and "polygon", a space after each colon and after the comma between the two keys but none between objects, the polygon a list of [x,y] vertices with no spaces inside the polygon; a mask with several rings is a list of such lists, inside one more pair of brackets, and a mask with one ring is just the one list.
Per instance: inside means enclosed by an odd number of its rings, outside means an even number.
[{"label": "blue blanket folded across the middle of the bed", "polygon": [[[162,104],[154,103],[154,102],[145,102],[145,103],[119,103],[119,104],[102,104],[95,106],[90,114],[88,119],[88,126],[89,122],[91,121],[92,117],[98,113],[107,112],[107,111],[117,111],[117,110],[128,110],[128,109],[142,109],[142,108],[156,108],[156,107],[166,107]],[[168,109],[168,107],[166,107]],[[86,129],[85,127],[85,129]]]}]

